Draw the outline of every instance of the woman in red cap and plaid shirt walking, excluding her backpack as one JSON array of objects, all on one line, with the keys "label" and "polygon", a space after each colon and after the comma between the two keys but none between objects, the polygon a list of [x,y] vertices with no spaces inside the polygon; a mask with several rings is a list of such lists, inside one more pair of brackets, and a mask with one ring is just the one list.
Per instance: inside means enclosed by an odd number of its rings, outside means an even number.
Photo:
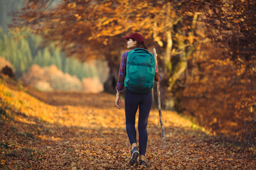
[{"label": "woman in red cap and plaid shirt walking, excluding her backpack", "polygon": [[[139,33],[132,33],[129,36],[125,36],[127,39],[127,48],[131,50],[135,50],[137,48],[143,48],[146,50],[146,45],[144,45],[144,38]],[[146,52],[148,52],[146,50]],[[125,91],[124,97],[124,105],[125,105],[125,119],[126,119],[126,129],[127,135],[129,138],[129,142],[132,146],[132,156],[129,160],[129,164],[133,165],[137,162],[137,158],[139,157],[139,164],[146,166],[145,161],[145,154],[146,154],[146,144],[148,140],[148,135],[146,131],[146,125],[149,118],[149,112],[152,106],[152,91],[151,89],[149,92],[143,93],[142,91],[131,91],[127,88],[125,81],[127,79],[127,55],[128,52],[124,52],[122,54],[122,62],[119,68],[119,76],[117,81],[117,98],[115,101],[116,107],[121,108],[121,98],[120,93]],[[150,53],[151,55],[151,53]],[[153,55],[152,55],[153,56]],[[156,81],[160,80],[159,73],[156,71],[156,67],[154,65],[154,75],[153,75],[153,85],[154,79]],[[124,82],[125,81],[125,82]],[[142,92],[142,93],[140,93]],[[135,115],[137,113],[137,108],[139,106],[139,123],[138,123],[138,130],[139,130],[139,150],[137,148],[137,137],[136,137],[136,130],[135,130]]]}]

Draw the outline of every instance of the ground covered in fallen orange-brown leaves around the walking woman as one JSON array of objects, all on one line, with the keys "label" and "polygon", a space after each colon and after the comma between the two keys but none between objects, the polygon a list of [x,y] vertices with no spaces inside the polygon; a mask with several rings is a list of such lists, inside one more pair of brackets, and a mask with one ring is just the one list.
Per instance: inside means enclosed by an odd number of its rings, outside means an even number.
[{"label": "ground covered in fallen orange-brown leaves around the walking woman", "polygon": [[[115,96],[24,91],[0,82],[0,169],[142,169],[128,164],[124,109],[114,108]],[[218,142],[177,113],[162,112],[166,149],[153,109],[147,169],[256,169],[253,149]]]}]

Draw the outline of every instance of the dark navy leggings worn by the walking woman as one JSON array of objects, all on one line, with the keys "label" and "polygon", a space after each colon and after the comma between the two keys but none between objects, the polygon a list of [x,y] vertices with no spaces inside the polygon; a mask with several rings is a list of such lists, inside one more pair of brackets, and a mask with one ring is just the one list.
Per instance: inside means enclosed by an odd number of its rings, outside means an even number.
[{"label": "dark navy leggings worn by the walking woman", "polygon": [[139,154],[142,155],[146,154],[146,143],[148,140],[146,125],[149,118],[152,101],[152,92],[149,92],[148,94],[134,94],[128,90],[125,92],[124,105],[126,128],[129,142],[131,145],[133,143],[137,143],[135,130],[135,115],[139,106]]}]

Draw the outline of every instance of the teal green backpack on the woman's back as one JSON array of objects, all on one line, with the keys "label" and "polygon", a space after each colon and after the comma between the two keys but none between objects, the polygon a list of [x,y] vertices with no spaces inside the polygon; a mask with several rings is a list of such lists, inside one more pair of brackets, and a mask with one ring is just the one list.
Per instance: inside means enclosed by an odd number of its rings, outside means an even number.
[{"label": "teal green backpack on the woman's back", "polygon": [[144,48],[128,52],[124,87],[138,94],[149,93],[154,86],[156,74],[154,56]]}]

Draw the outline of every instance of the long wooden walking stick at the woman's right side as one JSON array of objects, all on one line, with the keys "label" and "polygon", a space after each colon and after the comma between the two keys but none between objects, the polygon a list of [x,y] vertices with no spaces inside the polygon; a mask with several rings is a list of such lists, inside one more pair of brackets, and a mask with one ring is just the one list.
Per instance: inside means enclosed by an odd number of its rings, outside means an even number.
[{"label": "long wooden walking stick at the woman's right side", "polygon": [[[156,59],[157,54],[156,54],[156,49],[153,49],[154,52],[154,57]],[[157,60],[156,60],[156,66],[157,66]],[[156,91],[157,91],[157,101],[158,101],[158,109],[159,109],[159,119],[160,119],[160,125],[162,129],[162,137],[163,137],[163,148],[166,148],[166,139],[165,139],[165,133],[164,133],[164,123],[163,123],[163,118],[161,114],[161,101],[160,101],[160,85],[159,81],[156,81]]]}]

